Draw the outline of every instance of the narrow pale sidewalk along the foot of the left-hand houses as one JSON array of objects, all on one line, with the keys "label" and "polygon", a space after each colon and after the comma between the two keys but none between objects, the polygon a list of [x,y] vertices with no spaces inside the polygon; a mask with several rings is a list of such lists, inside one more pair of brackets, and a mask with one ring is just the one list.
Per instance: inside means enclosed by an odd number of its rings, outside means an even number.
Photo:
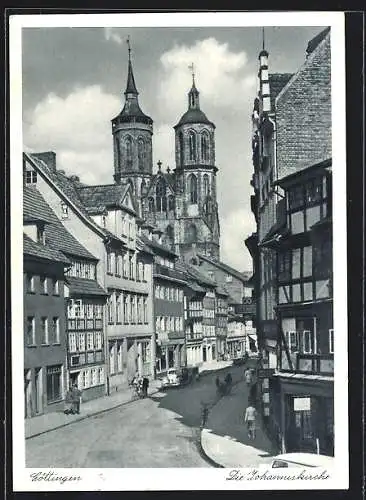
[{"label": "narrow pale sidewalk along the foot of the left-hand houses", "polygon": [[[149,396],[159,391],[161,385],[160,380],[153,380],[149,386]],[[25,419],[25,439],[29,439],[46,432],[50,432],[60,427],[79,422],[93,415],[98,415],[113,408],[118,408],[127,403],[135,401],[132,390],[126,388],[124,390],[114,392],[110,396],[93,399],[82,403],[80,407],[80,415],[65,415],[63,411],[46,413],[38,417]],[[136,400],[137,401],[137,400]]]}]

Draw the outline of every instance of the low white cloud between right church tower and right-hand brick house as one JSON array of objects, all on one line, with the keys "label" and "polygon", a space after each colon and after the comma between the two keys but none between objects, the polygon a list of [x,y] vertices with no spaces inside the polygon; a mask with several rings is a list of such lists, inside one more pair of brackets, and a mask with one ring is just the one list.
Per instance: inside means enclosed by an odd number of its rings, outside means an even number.
[{"label": "low white cloud between right church tower and right-hand brick house", "polygon": [[221,217],[221,260],[239,271],[252,270],[252,258],[244,240],[255,231],[254,218],[245,209],[237,209]]}]

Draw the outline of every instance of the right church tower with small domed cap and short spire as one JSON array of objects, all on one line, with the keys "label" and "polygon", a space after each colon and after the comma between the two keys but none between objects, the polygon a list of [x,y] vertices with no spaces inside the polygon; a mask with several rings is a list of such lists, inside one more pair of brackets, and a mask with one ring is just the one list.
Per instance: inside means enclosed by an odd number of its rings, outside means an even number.
[{"label": "right church tower with small domed cap and short spire", "polygon": [[197,251],[220,258],[220,225],[216,201],[215,125],[200,108],[192,69],[188,110],[175,125],[176,216],[179,253],[190,259]]}]

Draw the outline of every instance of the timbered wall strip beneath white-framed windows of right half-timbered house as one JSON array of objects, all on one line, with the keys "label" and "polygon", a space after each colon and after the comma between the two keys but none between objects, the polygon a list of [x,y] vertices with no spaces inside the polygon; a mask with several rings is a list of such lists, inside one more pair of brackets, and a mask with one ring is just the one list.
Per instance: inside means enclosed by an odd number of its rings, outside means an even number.
[{"label": "timbered wall strip beneath white-framed windows of right half-timbered house", "polygon": [[297,372],[308,375],[334,375],[333,354],[304,354],[300,352],[290,354],[293,370],[288,364],[286,354],[282,352],[282,371]]}]

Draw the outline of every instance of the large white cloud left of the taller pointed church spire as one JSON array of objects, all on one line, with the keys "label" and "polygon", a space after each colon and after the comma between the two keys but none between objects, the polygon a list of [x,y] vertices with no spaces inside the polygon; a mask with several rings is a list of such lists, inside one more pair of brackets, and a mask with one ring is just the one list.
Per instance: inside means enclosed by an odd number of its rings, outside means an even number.
[{"label": "large white cloud left of the taller pointed church spire", "polygon": [[55,151],[58,168],[87,183],[113,182],[110,120],[120,109],[98,85],[64,98],[51,93],[27,116],[24,142],[33,151]]}]

